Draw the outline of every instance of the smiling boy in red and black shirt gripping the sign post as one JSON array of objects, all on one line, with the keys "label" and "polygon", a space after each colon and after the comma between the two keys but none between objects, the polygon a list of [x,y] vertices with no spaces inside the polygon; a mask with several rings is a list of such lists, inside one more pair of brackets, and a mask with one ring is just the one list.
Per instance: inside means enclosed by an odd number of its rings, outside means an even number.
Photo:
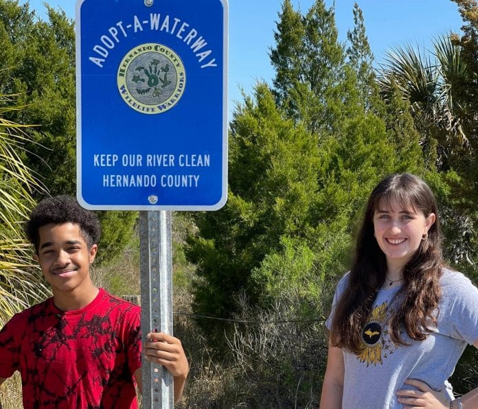
[{"label": "smiling boy in red and black shirt gripping the sign post", "polygon": [[[58,196],[38,204],[26,232],[53,297],[1,329],[0,384],[20,371],[25,409],[137,408],[140,309],[91,281],[98,218],[75,199]],[[143,353],[172,373],[177,401],[188,372],[181,342],[158,333],[148,339]]]}]

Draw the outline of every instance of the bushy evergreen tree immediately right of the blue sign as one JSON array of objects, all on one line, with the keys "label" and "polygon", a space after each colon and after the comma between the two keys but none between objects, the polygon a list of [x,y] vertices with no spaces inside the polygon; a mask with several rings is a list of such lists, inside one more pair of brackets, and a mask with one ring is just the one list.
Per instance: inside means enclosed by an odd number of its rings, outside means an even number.
[{"label": "bushy evergreen tree immediately right of the blue sign", "polygon": [[228,316],[234,296],[257,303],[263,288],[251,278],[283,237],[304,239],[317,191],[317,137],[277,110],[266,85],[235,114],[229,137],[227,205],[197,216],[200,235],[190,237],[188,257],[198,266],[195,309]]}]

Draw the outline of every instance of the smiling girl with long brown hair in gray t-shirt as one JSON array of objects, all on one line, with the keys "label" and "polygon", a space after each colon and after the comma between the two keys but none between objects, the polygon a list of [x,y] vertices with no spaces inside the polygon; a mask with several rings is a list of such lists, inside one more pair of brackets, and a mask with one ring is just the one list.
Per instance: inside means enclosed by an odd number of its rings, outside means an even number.
[{"label": "smiling girl with long brown hair in gray t-shirt", "polygon": [[478,348],[478,289],[443,266],[435,198],[420,178],[391,175],[372,191],[352,268],[326,325],[321,408],[478,408],[447,379]]}]

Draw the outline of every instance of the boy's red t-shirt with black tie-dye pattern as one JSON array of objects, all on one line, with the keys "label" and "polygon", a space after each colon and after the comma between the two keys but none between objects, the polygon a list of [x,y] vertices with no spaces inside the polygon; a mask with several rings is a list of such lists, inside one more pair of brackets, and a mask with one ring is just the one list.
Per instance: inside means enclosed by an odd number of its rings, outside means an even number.
[{"label": "boy's red t-shirt with black tie-dye pattern", "polygon": [[139,307],[102,289],[76,311],[47,299],[0,331],[0,377],[20,371],[25,409],[137,408],[140,367]]}]

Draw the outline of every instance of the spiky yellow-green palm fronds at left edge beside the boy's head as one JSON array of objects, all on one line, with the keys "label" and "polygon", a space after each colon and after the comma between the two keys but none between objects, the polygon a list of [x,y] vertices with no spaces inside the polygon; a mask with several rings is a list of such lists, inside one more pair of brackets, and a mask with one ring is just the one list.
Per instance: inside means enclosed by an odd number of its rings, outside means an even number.
[{"label": "spiky yellow-green palm fronds at left edge beside the boy's head", "polygon": [[[12,97],[0,95],[0,101]],[[1,117],[6,110],[0,110],[0,326],[49,294],[23,233],[23,222],[35,204],[32,192],[45,187],[21,160],[28,127]]]}]

